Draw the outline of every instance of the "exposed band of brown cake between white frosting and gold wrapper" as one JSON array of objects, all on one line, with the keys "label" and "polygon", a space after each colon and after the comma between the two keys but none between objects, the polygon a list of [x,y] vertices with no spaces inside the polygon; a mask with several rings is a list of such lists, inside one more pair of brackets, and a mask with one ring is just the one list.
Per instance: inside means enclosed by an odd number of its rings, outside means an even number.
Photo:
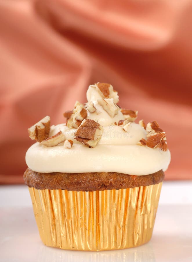
[{"label": "exposed band of brown cake between white frosting and gold wrapper", "polygon": [[27,168],[24,181],[36,189],[62,189],[69,191],[97,191],[155,185],[163,181],[162,170],[145,176],[116,172],[101,173],[38,173]]}]

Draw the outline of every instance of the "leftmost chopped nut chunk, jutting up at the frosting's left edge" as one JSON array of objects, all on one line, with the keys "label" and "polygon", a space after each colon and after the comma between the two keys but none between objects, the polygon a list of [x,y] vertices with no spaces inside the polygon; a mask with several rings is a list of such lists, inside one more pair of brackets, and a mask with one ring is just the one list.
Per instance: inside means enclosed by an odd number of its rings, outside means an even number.
[{"label": "leftmost chopped nut chunk, jutting up at the frosting's left edge", "polygon": [[37,142],[41,142],[47,139],[50,131],[50,116],[46,116],[28,128],[29,137],[35,139]]}]

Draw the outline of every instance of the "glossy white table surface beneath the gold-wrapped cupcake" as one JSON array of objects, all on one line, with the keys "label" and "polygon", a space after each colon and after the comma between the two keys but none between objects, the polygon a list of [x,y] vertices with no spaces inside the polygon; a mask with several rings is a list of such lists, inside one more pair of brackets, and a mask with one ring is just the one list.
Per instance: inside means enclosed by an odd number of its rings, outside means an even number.
[{"label": "glossy white table surface beneath the gold-wrapped cupcake", "polygon": [[27,186],[0,186],[0,261],[191,262],[192,181],[163,183],[153,236],[147,244],[101,252],[45,246],[39,237]]}]

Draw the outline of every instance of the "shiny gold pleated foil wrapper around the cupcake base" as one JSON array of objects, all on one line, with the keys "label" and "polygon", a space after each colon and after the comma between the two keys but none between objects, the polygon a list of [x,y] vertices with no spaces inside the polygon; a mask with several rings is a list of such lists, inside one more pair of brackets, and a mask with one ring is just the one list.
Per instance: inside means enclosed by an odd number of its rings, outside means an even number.
[{"label": "shiny gold pleated foil wrapper around the cupcake base", "polygon": [[152,236],[162,183],[94,192],[29,187],[43,243],[68,250],[136,247]]}]

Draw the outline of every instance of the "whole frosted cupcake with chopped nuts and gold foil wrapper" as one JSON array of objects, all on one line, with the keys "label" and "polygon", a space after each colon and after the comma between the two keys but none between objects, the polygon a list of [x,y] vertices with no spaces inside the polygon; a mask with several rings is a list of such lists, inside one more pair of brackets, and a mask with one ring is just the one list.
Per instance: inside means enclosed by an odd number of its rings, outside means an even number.
[{"label": "whole frosted cupcake with chopped nuts and gold foil wrapper", "polygon": [[136,247],[152,236],[171,155],[156,121],[135,123],[113,86],[90,85],[87,103],[28,129],[24,181],[45,245],[69,250]]}]

